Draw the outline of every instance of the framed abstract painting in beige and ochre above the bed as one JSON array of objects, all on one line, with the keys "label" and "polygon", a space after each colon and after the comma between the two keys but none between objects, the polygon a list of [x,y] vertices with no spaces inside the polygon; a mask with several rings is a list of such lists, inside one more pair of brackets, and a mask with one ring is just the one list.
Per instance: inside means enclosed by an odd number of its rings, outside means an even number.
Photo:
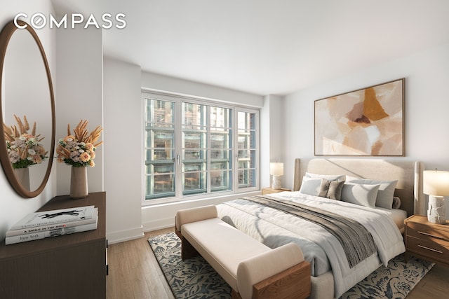
[{"label": "framed abstract painting in beige and ochre above the bed", "polygon": [[403,156],[405,78],[317,99],[315,155]]}]

